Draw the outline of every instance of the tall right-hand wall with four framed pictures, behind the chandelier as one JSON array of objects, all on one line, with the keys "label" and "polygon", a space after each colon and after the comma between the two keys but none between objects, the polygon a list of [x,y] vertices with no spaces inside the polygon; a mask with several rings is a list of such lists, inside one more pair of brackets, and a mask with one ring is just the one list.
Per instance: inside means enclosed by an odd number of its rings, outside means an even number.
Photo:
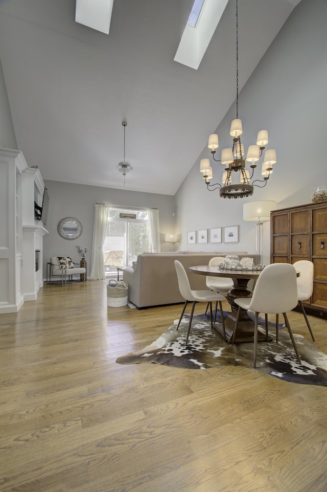
[{"label": "tall right-hand wall with four framed pictures, behind the chandelier", "polygon": [[[214,244],[188,245],[188,231],[239,225],[239,243],[222,244],[223,249],[252,253],[255,250],[255,222],[243,221],[243,203],[275,200],[277,208],[307,204],[311,202],[311,192],[315,186],[327,185],[324,158],[326,18],[325,0],[302,0],[239,95],[239,117],[243,122],[242,141],[245,148],[255,143],[258,130],[267,129],[267,148],[276,148],[277,151],[277,163],[267,186],[264,189],[254,188],[253,195],[243,199],[224,199],[219,197],[219,191],[208,192],[199,172],[200,159],[211,155],[207,143],[203,142],[205,147],[201,155],[176,193],[175,232],[180,234],[181,249],[217,250]],[[242,56],[242,46],[239,47],[239,56]],[[239,76],[241,78],[242,73]],[[213,128],[213,132],[219,135],[218,159],[222,148],[231,147],[229,127],[233,118],[236,118],[235,105],[217,130]],[[214,163],[212,167],[212,183],[221,182],[223,166]],[[256,169],[258,177],[261,177],[260,169],[259,166]],[[270,222],[264,225],[264,235],[264,263],[267,264]]]}]

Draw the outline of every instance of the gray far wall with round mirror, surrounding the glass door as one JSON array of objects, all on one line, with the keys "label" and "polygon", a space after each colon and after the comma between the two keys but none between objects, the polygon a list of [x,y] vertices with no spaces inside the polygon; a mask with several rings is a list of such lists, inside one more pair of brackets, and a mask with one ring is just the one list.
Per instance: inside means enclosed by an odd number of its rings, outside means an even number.
[{"label": "gray far wall with round mirror, surrounding the glass door", "polygon": [[[170,251],[170,243],[164,243],[164,235],[174,231],[174,197],[156,193],[115,190],[97,186],[46,181],[50,197],[49,214],[45,228],[49,234],[43,237],[43,277],[46,275],[46,262],[51,256],[71,256],[80,261],[76,246],[89,248],[86,260],[90,269],[94,212],[96,203],[112,205],[152,207],[159,210],[161,251]],[[57,225],[64,217],[75,217],[83,226],[82,235],[76,240],[67,240],[59,236]],[[175,245],[178,248],[178,244]]]}]

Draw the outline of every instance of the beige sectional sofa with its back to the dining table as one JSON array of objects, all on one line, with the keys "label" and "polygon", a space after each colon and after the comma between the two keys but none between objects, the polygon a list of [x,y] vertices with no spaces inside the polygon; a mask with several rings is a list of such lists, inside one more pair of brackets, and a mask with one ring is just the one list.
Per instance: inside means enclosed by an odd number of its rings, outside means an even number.
[{"label": "beige sectional sofa with its back to the dining table", "polygon": [[189,266],[207,265],[214,256],[238,255],[251,257],[259,263],[259,257],[246,251],[195,253],[143,253],[138,255],[135,269],[127,268],[123,280],[128,284],[128,300],[138,309],[184,302],[179,293],[174,260],[179,260],[188,274],[192,289],[205,289],[205,276],[189,272]]}]

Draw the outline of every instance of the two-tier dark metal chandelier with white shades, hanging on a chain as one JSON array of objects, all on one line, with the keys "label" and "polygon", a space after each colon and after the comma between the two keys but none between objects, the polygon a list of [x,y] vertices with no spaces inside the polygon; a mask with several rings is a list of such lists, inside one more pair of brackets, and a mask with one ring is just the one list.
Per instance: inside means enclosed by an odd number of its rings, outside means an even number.
[{"label": "two-tier dark metal chandelier with white shades, hanging on a chain", "polygon": [[[268,149],[264,153],[261,168],[263,178],[252,180],[254,169],[260,160],[263,151],[268,144],[268,131],[260,130],[256,139],[256,145],[250,145],[244,159],[244,145],[241,142],[242,120],[239,119],[239,41],[238,41],[238,0],[236,0],[236,119],[232,120],[229,135],[233,137],[232,148],[222,149],[221,159],[215,159],[216,149],[219,146],[218,135],[213,133],[209,136],[208,148],[214,161],[221,162],[225,166],[222,175],[222,184],[210,184],[213,178],[213,170],[209,159],[201,159],[200,172],[203,174],[207,189],[215,191],[219,189],[219,194],[223,198],[243,198],[253,194],[253,187],[263,188],[272,174],[272,166],[276,163],[276,150]],[[249,169],[245,169],[245,161],[249,163]]]}]

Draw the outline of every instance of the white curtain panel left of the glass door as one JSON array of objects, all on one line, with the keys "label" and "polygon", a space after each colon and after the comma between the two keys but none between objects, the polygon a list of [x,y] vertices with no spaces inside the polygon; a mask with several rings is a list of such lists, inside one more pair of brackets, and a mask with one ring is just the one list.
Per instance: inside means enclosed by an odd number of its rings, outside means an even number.
[{"label": "white curtain panel left of the glass door", "polygon": [[90,280],[105,279],[102,247],[106,238],[109,207],[109,204],[95,205]]}]

